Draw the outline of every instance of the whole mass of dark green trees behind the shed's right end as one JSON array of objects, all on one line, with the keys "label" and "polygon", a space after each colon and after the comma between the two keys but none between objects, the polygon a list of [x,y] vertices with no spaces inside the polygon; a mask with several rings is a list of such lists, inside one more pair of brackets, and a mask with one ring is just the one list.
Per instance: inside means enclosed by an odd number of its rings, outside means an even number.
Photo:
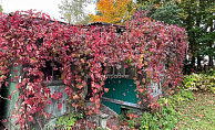
[{"label": "whole mass of dark green trees behind the shed's right end", "polygon": [[[213,0],[149,0],[141,10],[146,17],[168,24],[185,28],[188,33],[188,59],[185,64],[191,69],[202,71],[204,57],[208,56],[208,66],[213,68],[215,3]],[[197,68],[196,68],[197,65]]]}]

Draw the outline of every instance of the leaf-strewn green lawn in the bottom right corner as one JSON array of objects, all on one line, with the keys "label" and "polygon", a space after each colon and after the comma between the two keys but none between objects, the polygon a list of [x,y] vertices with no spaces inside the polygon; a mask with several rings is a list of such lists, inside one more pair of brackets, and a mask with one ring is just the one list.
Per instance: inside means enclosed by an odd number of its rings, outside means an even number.
[{"label": "leaf-strewn green lawn in the bottom right corner", "polygon": [[176,130],[215,130],[215,95],[195,93],[193,101],[184,101]]}]

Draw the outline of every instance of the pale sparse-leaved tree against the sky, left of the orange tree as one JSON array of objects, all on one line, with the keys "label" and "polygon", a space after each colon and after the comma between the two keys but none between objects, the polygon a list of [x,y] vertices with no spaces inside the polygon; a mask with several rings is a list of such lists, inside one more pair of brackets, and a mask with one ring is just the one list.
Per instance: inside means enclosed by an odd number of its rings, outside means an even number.
[{"label": "pale sparse-leaved tree against the sky, left of the orange tree", "polygon": [[85,14],[88,0],[62,0],[59,4],[60,13],[63,19],[72,24],[84,24],[89,22]]}]

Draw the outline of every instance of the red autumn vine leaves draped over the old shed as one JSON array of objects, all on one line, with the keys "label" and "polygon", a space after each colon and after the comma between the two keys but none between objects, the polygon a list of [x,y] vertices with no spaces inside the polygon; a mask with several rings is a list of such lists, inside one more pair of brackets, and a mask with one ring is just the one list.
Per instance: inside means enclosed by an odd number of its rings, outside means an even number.
[{"label": "red autumn vine leaves draped over the old shed", "polygon": [[[21,129],[35,118],[49,118],[44,111],[62,94],[51,95],[47,78],[41,68],[45,62],[58,62],[66,86],[65,93],[72,106],[88,113],[96,112],[104,90],[108,67],[135,66],[137,74],[136,89],[140,106],[144,105],[147,85],[151,80],[160,83],[167,95],[182,80],[181,68],[187,48],[186,33],[183,28],[165,25],[149,18],[140,17],[126,22],[123,33],[115,33],[114,28],[73,26],[51,21],[49,15],[33,11],[17,11],[12,17],[1,14],[0,19],[0,84],[10,82],[11,66],[22,65],[17,90],[19,102],[14,108],[14,118]],[[164,69],[165,65],[165,69]],[[58,69],[53,65],[54,69]],[[16,71],[17,72],[17,71]],[[147,74],[147,78],[143,77]],[[83,100],[86,75],[91,78],[93,108],[85,108]],[[20,107],[18,107],[20,105]],[[59,102],[59,109],[62,102]],[[28,120],[28,121],[27,121]]]}]

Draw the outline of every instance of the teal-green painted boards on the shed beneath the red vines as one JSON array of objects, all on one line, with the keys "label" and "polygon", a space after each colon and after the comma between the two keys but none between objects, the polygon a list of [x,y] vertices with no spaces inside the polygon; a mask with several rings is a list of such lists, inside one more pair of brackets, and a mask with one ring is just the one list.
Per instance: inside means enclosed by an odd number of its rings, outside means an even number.
[{"label": "teal-green painted boards on the shed beneath the red vines", "polygon": [[[137,104],[136,98],[136,85],[133,79],[125,78],[108,78],[105,80],[105,88],[109,88],[108,93],[104,93],[103,97],[122,100],[126,102]],[[121,105],[110,101],[102,101],[105,106],[113,109],[115,112],[121,113]]]}]

